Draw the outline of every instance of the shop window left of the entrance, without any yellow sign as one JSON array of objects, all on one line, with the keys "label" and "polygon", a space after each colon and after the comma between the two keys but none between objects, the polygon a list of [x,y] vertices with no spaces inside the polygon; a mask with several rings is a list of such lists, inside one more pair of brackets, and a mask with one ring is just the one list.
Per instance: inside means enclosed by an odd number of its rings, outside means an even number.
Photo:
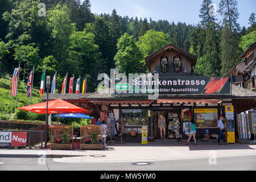
[{"label": "shop window left of the entrance, without any yellow sign", "polygon": [[122,109],[122,122],[126,123],[126,126],[147,126],[148,110]]}]

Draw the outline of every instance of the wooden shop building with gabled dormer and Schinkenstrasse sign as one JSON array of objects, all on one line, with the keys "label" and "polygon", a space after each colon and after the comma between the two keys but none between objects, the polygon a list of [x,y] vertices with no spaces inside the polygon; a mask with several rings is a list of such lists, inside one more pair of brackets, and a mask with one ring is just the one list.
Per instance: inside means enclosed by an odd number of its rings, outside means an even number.
[{"label": "wooden shop building with gabled dormer and Schinkenstrasse sign", "polygon": [[[142,126],[148,127],[148,137],[159,139],[159,114],[166,118],[166,138],[177,134],[187,138],[192,118],[197,137],[203,138],[205,134],[214,137],[221,114],[229,115],[228,127],[237,138],[237,113],[256,107],[255,92],[232,84],[229,77],[196,74],[197,57],[173,44],[151,53],[145,61],[150,71],[146,76],[122,81],[114,77],[114,86],[99,92],[49,94],[49,100],[60,98],[71,102],[105,121],[113,113],[118,123],[116,134],[122,133],[126,142],[141,142]],[[157,97],[149,97],[155,93]],[[130,131],[136,131],[138,137],[129,137]]]}]

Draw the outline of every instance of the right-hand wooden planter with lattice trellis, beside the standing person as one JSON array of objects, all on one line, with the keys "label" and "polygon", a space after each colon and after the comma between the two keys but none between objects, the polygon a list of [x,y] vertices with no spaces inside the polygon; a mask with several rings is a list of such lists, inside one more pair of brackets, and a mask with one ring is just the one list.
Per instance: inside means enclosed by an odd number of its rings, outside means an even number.
[{"label": "right-hand wooden planter with lattice trellis, beside the standing person", "polygon": [[81,126],[81,150],[102,150],[102,126]]}]

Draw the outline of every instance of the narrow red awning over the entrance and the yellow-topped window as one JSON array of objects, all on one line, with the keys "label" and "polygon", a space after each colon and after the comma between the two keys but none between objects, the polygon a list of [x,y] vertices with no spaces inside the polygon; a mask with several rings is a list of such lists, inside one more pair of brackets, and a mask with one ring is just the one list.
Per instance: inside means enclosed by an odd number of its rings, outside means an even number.
[{"label": "narrow red awning over the entrance and the yellow-topped window", "polygon": [[159,99],[158,104],[219,104],[221,100],[168,100]]}]

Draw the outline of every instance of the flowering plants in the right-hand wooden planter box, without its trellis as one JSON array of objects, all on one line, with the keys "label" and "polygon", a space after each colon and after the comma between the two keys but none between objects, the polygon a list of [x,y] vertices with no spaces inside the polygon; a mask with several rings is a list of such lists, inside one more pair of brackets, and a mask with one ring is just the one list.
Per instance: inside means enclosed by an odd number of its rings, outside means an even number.
[{"label": "flowering plants in the right-hand wooden planter box, without its trellis", "polygon": [[81,150],[102,150],[101,136],[97,133],[92,133],[92,136],[84,135],[81,138]]}]

